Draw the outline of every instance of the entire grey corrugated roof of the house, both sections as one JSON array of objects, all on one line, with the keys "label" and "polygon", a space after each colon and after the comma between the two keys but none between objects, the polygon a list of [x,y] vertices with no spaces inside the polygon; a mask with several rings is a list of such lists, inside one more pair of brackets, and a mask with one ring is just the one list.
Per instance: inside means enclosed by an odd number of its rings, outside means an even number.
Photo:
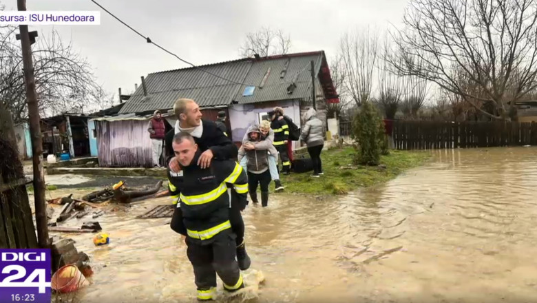
[{"label": "entire grey corrugated roof of the house, both sections", "polygon": [[[156,109],[165,111],[171,109],[173,102],[179,97],[192,98],[200,107],[227,106],[232,101],[245,104],[307,99],[311,95],[310,61],[314,61],[317,75],[323,57],[324,52],[319,51],[199,66],[225,79],[245,84],[231,83],[196,67],[156,72],[149,74],[145,79],[148,96],[144,96],[143,86],[140,85],[119,114],[149,112]],[[260,88],[269,68],[270,73]],[[283,70],[286,72],[281,78]],[[293,82],[296,87],[292,94],[288,94],[287,87]],[[251,96],[242,96],[247,86],[255,86],[255,90]]]}]

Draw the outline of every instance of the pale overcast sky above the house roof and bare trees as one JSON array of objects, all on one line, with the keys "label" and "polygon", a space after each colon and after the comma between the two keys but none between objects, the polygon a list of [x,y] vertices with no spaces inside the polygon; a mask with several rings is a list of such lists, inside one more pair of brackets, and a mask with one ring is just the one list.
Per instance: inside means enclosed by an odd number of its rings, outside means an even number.
[{"label": "pale overcast sky above the house roof and bare trees", "polygon": [[[141,34],[196,65],[239,58],[248,32],[280,28],[291,52],[324,50],[330,60],[339,36],[367,25],[398,25],[407,0],[96,0]],[[0,0],[16,10],[17,0]],[[101,25],[30,27],[39,36],[54,28],[92,64],[99,83],[116,94],[132,92],[140,76],[187,67],[146,43],[89,0],[26,0],[28,10],[99,10]]]}]

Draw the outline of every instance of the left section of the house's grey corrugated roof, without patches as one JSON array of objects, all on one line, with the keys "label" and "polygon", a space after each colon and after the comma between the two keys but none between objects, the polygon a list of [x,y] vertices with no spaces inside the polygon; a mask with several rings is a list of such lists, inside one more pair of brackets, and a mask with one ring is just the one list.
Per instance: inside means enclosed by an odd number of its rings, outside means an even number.
[{"label": "left section of the house's grey corrugated roof, without patches", "polygon": [[[225,79],[243,83],[251,64],[251,61],[241,59],[200,67]],[[148,96],[144,96],[143,86],[140,85],[120,114],[171,109],[179,97],[191,98],[200,107],[227,106],[240,86],[195,67],[149,74],[145,83]]]}]

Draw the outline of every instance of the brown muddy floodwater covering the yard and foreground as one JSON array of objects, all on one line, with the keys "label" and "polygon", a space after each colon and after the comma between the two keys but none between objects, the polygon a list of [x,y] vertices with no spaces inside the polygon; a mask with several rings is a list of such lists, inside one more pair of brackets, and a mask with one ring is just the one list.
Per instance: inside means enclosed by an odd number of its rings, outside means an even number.
[{"label": "brown muddy floodwater covering the yard and foreground", "polygon": [[[256,302],[536,302],[537,148],[432,151],[433,160],[342,198],[272,195],[244,211]],[[111,244],[61,235],[92,260],[79,302],[195,302],[169,198],[98,218]],[[76,222],[75,222],[76,223]],[[76,224],[75,224],[76,225]]]}]

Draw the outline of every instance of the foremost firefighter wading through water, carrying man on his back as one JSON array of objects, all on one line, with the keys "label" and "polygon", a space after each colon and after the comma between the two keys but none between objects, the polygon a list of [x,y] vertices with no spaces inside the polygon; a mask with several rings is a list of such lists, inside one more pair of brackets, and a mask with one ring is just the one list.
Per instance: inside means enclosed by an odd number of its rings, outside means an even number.
[{"label": "foremost firefighter wading through water, carrying man on his back", "polygon": [[229,222],[228,185],[235,187],[242,209],[246,207],[248,179],[234,160],[215,160],[210,167],[197,165],[201,151],[187,132],[173,136],[173,152],[183,171],[179,207],[186,236],[187,256],[194,270],[198,300],[213,300],[216,274],[228,292],[244,287],[235,260],[235,233]]}]

